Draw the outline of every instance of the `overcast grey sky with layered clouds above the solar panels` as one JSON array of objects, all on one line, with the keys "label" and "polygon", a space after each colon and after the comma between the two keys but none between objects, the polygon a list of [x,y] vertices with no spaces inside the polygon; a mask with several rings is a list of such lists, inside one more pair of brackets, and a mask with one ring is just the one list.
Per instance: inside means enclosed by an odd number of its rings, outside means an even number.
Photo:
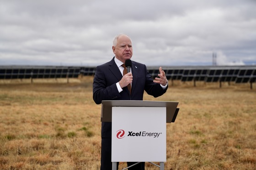
[{"label": "overcast grey sky with layered clouds above the solar panels", "polygon": [[97,66],[113,37],[147,66],[256,65],[256,0],[0,0],[0,65]]}]

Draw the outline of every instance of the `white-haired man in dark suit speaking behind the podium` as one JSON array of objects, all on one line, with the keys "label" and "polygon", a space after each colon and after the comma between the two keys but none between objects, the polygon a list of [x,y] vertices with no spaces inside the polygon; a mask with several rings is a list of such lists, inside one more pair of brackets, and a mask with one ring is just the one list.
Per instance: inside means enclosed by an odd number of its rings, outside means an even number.
[{"label": "white-haired man in dark suit speaking behind the podium", "polygon": [[[123,75],[122,64],[133,56],[132,41],[127,35],[116,36],[112,50],[115,57],[110,62],[96,67],[93,80],[93,100],[96,104],[101,104],[102,100],[143,100],[144,91],[155,98],[166,92],[168,81],[161,67],[159,78],[153,80],[144,64],[133,61],[131,72]],[[131,84],[131,93],[128,84]],[[101,170],[112,170],[111,128],[111,122],[101,123]],[[130,166],[134,163],[136,162],[127,164]],[[144,162],[129,170],[144,170]]]}]

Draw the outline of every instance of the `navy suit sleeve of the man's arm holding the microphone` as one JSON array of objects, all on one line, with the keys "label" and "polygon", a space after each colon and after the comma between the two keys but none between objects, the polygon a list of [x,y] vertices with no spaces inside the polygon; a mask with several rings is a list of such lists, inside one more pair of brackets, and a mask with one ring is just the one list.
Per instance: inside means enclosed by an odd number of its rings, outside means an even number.
[{"label": "navy suit sleeve of the man's arm holding the microphone", "polygon": [[120,97],[117,82],[111,80],[106,69],[96,67],[93,80],[93,100],[96,104],[101,104],[102,100],[114,100]]}]

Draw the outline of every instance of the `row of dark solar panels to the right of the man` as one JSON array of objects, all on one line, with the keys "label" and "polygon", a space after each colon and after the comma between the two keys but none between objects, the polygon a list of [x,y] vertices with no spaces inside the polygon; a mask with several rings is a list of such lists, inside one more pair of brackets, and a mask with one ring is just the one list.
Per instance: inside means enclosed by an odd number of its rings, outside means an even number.
[{"label": "row of dark solar panels to the right of the man", "polygon": [[[204,82],[256,82],[256,67],[241,68],[165,68],[165,75],[168,80],[204,81]],[[158,69],[149,68],[152,77],[157,77]]]}]

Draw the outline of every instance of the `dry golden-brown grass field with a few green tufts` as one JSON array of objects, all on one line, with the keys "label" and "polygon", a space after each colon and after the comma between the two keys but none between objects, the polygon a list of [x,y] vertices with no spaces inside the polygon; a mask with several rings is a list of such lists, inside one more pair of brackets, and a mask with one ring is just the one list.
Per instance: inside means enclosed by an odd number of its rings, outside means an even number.
[{"label": "dry golden-brown grass field with a few green tufts", "polygon": [[[92,80],[0,82],[0,170],[99,170],[101,105]],[[164,96],[145,94],[179,102],[176,122],[166,124],[165,170],[256,170],[255,88],[174,82]]]}]

